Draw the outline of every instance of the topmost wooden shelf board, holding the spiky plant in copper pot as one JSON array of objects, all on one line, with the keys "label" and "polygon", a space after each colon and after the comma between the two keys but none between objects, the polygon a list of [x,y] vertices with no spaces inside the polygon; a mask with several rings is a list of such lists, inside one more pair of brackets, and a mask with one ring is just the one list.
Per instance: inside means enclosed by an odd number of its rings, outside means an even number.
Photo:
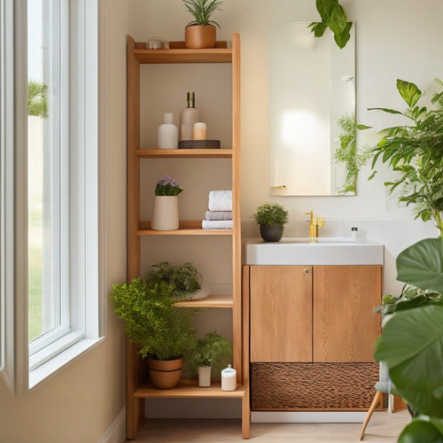
[{"label": "topmost wooden shelf board, holding the spiky plant in copper pot", "polygon": [[229,48],[209,48],[202,50],[134,50],[134,57],[140,63],[231,63],[232,50]]}]

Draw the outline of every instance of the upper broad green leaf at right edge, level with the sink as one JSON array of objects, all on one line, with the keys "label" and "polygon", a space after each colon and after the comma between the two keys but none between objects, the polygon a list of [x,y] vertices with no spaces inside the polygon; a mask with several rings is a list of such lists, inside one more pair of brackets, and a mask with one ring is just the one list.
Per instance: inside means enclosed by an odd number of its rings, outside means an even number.
[{"label": "upper broad green leaf at right edge, level with the sink", "polygon": [[443,292],[443,237],[426,238],[400,253],[397,280]]}]

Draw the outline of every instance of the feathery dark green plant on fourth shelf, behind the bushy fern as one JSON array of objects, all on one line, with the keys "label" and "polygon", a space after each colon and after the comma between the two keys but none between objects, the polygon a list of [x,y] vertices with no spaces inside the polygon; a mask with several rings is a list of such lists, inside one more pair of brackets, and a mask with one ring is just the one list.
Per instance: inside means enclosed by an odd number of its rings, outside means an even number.
[{"label": "feathery dark green plant on fourth shelf, behind the bushy fern", "polygon": [[171,284],[175,299],[191,299],[201,289],[200,279],[197,268],[191,262],[174,266],[167,261],[152,265],[145,277],[151,285]]}]

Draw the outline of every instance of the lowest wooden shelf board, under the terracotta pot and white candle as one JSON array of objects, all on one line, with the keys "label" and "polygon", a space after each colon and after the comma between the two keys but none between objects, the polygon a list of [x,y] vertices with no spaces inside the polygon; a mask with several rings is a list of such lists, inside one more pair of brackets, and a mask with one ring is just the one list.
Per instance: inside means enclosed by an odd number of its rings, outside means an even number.
[{"label": "lowest wooden shelf board, under the terracotta pot and white candle", "polygon": [[134,392],[136,399],[148,398],[237,398],[245,397],[245,386],[237,385],[235,391],[221,391],[221,382],[212,382],[210,387],[198,387],[196,380],[182,380],[173,389],[156,389],[152,385],[143,383]]}]

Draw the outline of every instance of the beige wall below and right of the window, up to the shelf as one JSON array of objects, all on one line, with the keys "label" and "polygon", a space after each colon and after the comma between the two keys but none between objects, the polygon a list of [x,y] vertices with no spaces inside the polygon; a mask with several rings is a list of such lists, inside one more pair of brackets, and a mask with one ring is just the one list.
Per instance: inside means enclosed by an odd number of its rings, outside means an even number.
[{"label": "beige wall below and right of the window, up to the shelf", "polygon": [[[0,441],[95,443],[125,407],[125,338],[107,293],[126,278],[126,34],[128,3],[100,2],[100,203],[105,341],[33,391],[12,395],[0,378]],[[123,430],[124,431],[124,430]],[[119,430],[117,430],[119,432]],[[122,441],[124,434],[120,431]]]}]

